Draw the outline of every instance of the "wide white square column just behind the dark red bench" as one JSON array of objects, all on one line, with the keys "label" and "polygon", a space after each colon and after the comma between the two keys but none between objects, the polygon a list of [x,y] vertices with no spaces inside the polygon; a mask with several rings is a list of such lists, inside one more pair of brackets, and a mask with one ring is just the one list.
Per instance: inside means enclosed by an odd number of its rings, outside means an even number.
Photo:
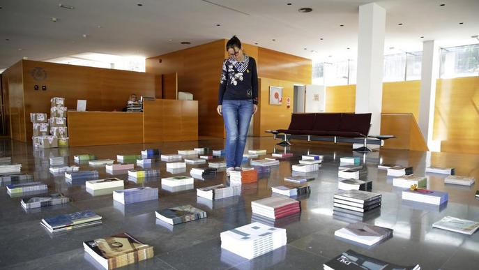
[{"label": "wide white square column just behind the dark red bench", "polygon": [[356,113],[371,112],[370,134],[380,134],[383,100],[386,10],[377,3],[359,6]]}]

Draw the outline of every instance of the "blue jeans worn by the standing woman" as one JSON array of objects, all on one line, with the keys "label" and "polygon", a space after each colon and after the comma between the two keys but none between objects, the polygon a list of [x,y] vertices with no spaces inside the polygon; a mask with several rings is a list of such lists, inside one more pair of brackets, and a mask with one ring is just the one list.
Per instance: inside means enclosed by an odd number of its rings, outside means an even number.
[{"label": "blue jeans worn by the standing woman", "polygon": [[241,167],[253,101],[223,100],[222,114],[226,126],[226,167]]}]

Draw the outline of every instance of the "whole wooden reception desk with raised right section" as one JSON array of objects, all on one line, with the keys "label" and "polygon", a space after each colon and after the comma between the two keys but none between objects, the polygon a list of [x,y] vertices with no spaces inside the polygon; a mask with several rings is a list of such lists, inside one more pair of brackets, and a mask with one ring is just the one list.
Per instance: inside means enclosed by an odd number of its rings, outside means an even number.
[{"label": "whole wooden reception desk with raised right section", "polygon": [[70,147],[198,140],[197,100],[145,100],[143,112],[68,112]]}]

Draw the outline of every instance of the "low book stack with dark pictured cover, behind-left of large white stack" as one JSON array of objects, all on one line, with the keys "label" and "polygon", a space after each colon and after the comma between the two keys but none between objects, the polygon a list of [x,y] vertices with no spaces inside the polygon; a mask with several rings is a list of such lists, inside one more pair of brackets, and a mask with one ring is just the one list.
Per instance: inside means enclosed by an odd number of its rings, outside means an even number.
[{"label": "low book stack with dark pictured cover, behind-left of large white stack", "polygon": [[186,223],[188,221],[206,218],[207,216],[205,211],[192,207],[190,204],[182,205],[181,207],[162,209],[160,211],[155,211],[155,214],[156,218],[171,225]]}]

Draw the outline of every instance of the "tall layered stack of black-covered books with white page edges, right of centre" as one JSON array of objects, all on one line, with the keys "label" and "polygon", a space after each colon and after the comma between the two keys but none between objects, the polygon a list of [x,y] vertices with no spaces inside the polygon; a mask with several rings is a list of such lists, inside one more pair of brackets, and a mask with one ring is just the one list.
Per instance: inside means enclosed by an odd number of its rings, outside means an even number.
[{"label": "tall layered stack of black-covered books with white page edges, right of centre", "polygon": [[335,208],[366,212],[381,207],[381,194],[363,190],[340,190],[333,197]]}]

